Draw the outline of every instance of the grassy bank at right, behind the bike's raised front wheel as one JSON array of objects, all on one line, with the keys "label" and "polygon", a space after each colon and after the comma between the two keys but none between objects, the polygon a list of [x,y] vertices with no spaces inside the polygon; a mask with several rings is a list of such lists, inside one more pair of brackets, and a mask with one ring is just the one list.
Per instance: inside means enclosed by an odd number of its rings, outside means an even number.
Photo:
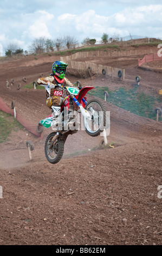
[{"label": "grassy bank at right, behind the bike's raised front wheel", "polygon": [[[113,105],[140,115],[141,117],[156,120],[154,109],[160,103],[159,97],[139,92],[138,87],[129,90],[123,87],[120,87],[118,90],[109,90],[108,87],[96,87],[94,90],[88,92],[88,94],[100,97],[104,100],[105,91],[107,91],[109,95],[107,101]],[[162,120],[162,118],[160,117],[159,120]]]}]

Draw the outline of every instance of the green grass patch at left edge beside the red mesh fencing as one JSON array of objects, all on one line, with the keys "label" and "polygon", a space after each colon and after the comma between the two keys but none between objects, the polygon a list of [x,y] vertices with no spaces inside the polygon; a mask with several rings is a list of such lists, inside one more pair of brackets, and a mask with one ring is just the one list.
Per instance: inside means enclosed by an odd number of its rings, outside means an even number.
[{"label": "green grass patch at left edge beside the red mesh fencing", "polygon": [[10,114],[0,111],[0,143],[6,142],[11,131],[23,129],[23,126]]}]

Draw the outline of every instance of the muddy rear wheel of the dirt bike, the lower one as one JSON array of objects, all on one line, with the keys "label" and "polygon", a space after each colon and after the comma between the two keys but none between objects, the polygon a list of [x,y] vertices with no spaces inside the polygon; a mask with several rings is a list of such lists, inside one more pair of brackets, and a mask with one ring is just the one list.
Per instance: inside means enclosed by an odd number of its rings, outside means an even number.
[{"label": "muddy rear wheel of the dirt bike, the lower one", "polygon": [[50,163],[58,163],[62,159],[64,151],[64,141],[61,139],[56,140],[50,148],[50,143],[55,135],[56,132],[51,132],[48,135],[44,145],[44,152],[48,162]]}]

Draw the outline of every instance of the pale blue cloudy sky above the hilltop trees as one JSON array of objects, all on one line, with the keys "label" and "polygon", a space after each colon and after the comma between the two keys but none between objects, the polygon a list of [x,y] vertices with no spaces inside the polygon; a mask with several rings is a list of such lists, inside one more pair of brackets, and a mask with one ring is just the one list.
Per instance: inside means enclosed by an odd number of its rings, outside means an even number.
[{"label": "pale blue cloudy sky above the hilltop trees", "polygon": [[162,39],[161,0],[0,0],[0,45],[29,50],[35,38],[74,36],[78,42],[103,33]]}]

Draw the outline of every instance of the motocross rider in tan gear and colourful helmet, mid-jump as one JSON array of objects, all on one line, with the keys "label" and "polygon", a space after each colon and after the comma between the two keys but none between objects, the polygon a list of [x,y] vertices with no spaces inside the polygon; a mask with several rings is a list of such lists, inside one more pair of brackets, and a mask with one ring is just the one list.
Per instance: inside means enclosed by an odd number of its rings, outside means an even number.
[{"label": "motocross rider in tan gear and colourful helmet, mid-jump", "polygon": [[52,65],[53,74],[45,78],[38,78],[37,80],[37,84],[44,86],[46,89],[46,104],[53,112],[53,120],[56,122],[59,120],[62,105],[62,87],[70,86],[77,88],[65,77],[67,66],[68,64],[64,62],[56,61]]}]

